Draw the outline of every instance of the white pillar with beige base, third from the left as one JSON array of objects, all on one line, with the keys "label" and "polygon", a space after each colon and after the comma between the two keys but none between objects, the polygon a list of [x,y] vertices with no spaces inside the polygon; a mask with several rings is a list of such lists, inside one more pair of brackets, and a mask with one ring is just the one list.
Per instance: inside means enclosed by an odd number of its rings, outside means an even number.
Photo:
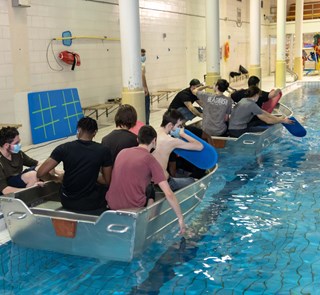
[{"label": "white pillar with beige base, third from the left", "polygon": [[[250,0],[250,76],[261,80],[261,11],[260,0]],[[260,85],[261,87],[261,85]]]}]

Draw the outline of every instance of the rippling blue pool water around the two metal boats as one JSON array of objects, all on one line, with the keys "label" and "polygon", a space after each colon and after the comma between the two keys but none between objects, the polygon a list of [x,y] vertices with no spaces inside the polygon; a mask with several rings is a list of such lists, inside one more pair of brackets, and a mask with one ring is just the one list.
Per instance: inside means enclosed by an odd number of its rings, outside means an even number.
[{"label": "rippling blue pool water around the two metal boats", "polygon": [[320,87],[282,102],[308,131],[258,156],[221,155],[185,238],[131,263],[0,247],[0,294],[320,294]]}]

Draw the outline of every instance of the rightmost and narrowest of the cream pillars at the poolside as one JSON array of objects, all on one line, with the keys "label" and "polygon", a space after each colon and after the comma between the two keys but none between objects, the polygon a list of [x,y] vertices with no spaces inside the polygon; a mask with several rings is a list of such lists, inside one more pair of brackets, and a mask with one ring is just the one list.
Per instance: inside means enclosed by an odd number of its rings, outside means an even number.
[{"label": "rightmost and narrowest of the cream pillars at the poolside", "polygon": [[302,26],[303,26],[303,0],[296,0],[295,45],[294,45],[294,71],[298,79],[303,78],[302,62]]}]

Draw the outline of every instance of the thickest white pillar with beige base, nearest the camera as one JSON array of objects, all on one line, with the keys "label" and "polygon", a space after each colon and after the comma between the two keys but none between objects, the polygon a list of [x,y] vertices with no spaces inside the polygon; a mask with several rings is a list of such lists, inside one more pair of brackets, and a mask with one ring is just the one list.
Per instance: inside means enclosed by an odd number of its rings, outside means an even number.
[{"label": "thickest white pillar with beige base, nearest the camera", "polygon": [[122,56],[122,103],[131,104],[138,119],[145,122],[141,73],[139,0],[119,0]]}]

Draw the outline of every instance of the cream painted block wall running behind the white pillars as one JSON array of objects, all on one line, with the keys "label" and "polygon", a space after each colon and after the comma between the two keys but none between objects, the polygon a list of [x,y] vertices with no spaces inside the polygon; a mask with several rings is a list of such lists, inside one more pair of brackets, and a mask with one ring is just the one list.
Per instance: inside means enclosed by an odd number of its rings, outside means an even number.
[{"label": "cream painted block wall running behind the white pillars", "polygon": [[[199,61],[198,50],[206,47],[205,0],[140,0],[139,6],[150,91],[203,80],[206,63]],[[0,0],[0,121],[22,123],[21,133],[28,133],[28,92],[76,87],[83,106],[121,96],[121,42],[74,40],[71,47],[50,43],[66,30],[74,36],[119,38],[118,8],[117,0],[31,0],[29,8],[13,8],[10,0]],[[241,26],[236,23],[237,8]],[[267,38],[265,26],[262,38]],[[249,67],[249,1],[220,1],[220,30],[220,46],[230,42],[230,58],[221,60],[221,76],[228,79],[240,64]],[[61,68],[54,55],[62,50],[79,53],[81,66],[75,71],[68,65]]]}]

